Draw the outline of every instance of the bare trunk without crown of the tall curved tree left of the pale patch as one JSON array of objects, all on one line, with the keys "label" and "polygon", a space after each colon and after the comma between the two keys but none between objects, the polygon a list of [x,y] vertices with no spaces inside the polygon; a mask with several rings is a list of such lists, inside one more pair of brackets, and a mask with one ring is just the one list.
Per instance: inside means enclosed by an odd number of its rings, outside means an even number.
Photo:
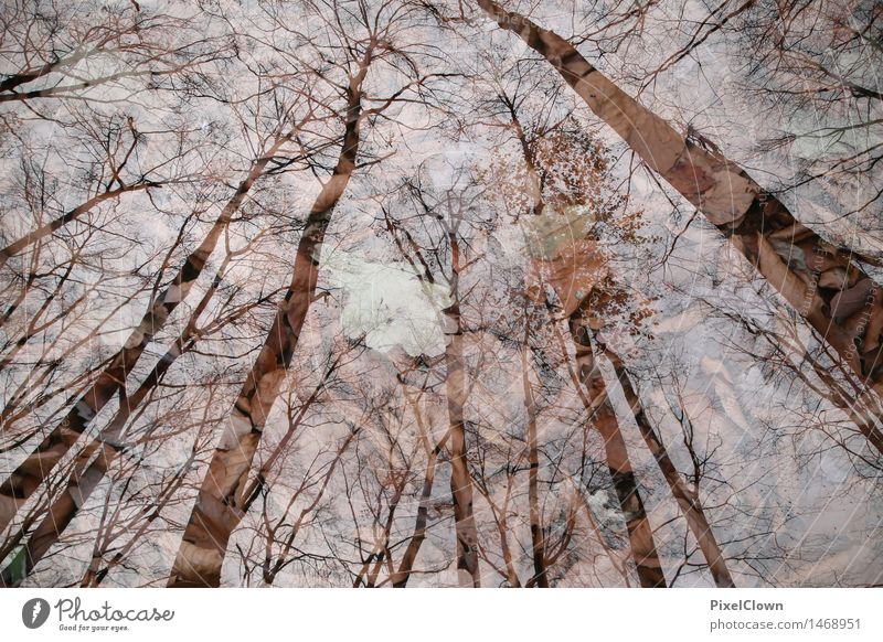
[{"label": "bare trunk without crown of the tall curved tree left of the pale patch", "polygon": [[221,582],[230,535],[244,516],[243,505],[247,500],[244,490],[252,460],[316,295],[325,234],[355,169],[361,85],[370,64],[369,50],[359,73],[350,79],[347,126],[338,163],[307,216],[291,283],[215,448],[184,528],[169,587],[216,587]]}]

